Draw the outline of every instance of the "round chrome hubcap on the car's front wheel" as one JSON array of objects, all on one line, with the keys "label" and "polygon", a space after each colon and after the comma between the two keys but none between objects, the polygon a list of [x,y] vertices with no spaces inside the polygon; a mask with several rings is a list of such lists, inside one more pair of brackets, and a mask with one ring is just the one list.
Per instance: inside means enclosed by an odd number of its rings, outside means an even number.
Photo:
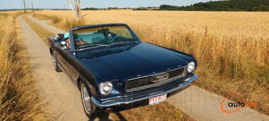
[{"label": "round chrome hubcap on the car's front wheel", "polygon": [[82,102],[83,102],[84,108],[86,109],[88,113],[90,113],[91,112],[91,99],[88,94],[87,88],[84,85],[82,85],[81,87],[81,93],[82,93]]}]

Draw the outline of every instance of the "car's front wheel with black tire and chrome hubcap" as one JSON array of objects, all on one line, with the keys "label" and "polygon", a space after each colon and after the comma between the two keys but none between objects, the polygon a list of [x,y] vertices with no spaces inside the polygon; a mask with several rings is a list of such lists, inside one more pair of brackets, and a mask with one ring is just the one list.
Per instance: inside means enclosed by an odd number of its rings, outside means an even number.
[{"label": "car's front wheel with black tire and chrome hubcap", "polygon": [[[91,96],[87,90],[86,85],[80,81],[80,94],[84,112],[90,120],[94,120],[98,114],[99,109],[93,104]],[[89,99],[89,100],[87,100]]]}]

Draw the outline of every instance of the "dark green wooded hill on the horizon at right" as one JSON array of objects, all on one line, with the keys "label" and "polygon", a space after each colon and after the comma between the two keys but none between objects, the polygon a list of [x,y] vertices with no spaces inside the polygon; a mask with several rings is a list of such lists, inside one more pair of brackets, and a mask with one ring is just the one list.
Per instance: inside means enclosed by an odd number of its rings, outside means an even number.
[{"label": "dark green wooded hill on the horizon at right", "polygon": [[269,0],[220,0],[199,2],[188,6],[160,5],[159,10],[194,11],[269,11]]}]

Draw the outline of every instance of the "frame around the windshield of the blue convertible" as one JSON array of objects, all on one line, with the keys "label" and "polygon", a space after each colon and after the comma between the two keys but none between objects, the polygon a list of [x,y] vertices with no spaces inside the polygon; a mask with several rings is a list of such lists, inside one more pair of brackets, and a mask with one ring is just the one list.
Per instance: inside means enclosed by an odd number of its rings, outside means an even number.
[{"label": "frame around the windshield of the blue convertible", "polygon": [[[69,33],[70,33],[70,42],[71,42],[71,51],[74,52],[75,54],[75,51],[80,51],[80,49],[75,49],[75,46],[74,46],[74,40],[73,40],[73,31],[74,30],[79,30],[79,29],[89,29],[89,28],[97,28],[97,27],[109,27],[109,26],[125,26],[130,34],[132,35],[132,37],[134,39],[137,40],[137,42],[140,42],[141,40],[137,37],[137,35],[134,33],[134,31],[127,25],[127,24],[123,24],[123,23],[113,23],[113,24],[98,24],[98,25],[84,25],[84,26],[76,26],[74,28],[72,28]],[[90,48],[89,48],[90,49]]]}]

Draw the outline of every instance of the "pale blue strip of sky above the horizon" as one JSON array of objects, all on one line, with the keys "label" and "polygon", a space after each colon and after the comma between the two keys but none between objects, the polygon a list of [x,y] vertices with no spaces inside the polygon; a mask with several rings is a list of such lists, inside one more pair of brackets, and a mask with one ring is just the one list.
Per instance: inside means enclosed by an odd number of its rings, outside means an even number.
[{"label": "pale blue strip of sky above the horizon", "polygon": [[[23,0],[0,0],[0,9],[21,9]],[[34,8],[69,8],[67,0],[32,0]],[[71,0],[72,1],[72,0]],[[197,2],[206,2],[210,0],[80,0],[81,8],[95,7],[148,7],[160,6],[161,4],[185,6]],[[31,0],[25,0],[31,8]]]}]

